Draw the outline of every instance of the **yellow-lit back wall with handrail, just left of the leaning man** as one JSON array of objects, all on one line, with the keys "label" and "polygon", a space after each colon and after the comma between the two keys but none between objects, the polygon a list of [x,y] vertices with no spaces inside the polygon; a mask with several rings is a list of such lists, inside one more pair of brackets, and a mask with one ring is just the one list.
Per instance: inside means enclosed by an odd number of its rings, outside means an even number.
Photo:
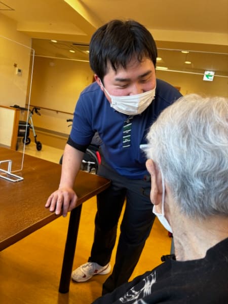
[{"label": "yellow-lit back wall with handrail, just left of the leaning man", "polygon": [[35,57],[30,103],[56,111],[41,109],[41,116],[33,115],[34,125],[68,134],[66,119],[72,118],[69,113],[92,79],[88,62]]}]

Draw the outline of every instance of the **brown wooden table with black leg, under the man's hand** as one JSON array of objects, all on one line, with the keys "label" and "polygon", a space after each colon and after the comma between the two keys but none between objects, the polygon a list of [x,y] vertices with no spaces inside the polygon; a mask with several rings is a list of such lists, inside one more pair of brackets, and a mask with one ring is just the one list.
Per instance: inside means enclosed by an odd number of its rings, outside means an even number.
[{"label": "brown wooden table with black leg, under the man's hand", "polygon": [[[0,147],[0,161],[8,159],[14,165],[21,162],[22,154]],[[59,164],[25,155],[23,170],[16,174],[24,180],[11,182],[0,178],[0,251],[60,216],[44,207],[49,195],[58,188],[61,174]],[[59,283],[61,293],[69,291],[82,203],[109,185],[109,180],[98,175],[80,171],[77,176],[74,190],[79,199],[77,207],[70,212]]]}]

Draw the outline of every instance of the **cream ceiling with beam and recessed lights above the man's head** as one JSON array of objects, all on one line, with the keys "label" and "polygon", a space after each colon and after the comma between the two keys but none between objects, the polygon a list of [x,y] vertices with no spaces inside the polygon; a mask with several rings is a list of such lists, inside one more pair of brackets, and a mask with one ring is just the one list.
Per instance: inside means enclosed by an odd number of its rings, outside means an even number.
[{"label": "cream ceiling with beam and recessed lights above the man's head", "polygon": [[36,56],[87,61],[91,35],[99,26],[111,19],[135,19],[156,40],[162,57],[158,66],[192,72],[209,69],[225,76],[227,12],[227,0],[0,1],[0,14],[15,20],[17,30],[32,38]]}]

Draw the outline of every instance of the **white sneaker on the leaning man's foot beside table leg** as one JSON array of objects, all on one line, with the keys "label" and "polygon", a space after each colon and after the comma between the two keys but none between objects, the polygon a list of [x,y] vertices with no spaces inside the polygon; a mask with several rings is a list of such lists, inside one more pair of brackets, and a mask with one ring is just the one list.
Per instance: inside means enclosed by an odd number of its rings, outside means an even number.
[{"label": "white sneaker on the leaning man's foot beside table leg", "polygon": [[76,282],[85,282],[88,281],[94,275],[106,275],[111,271],[110,263],[107,263],[105,266],[100,266],[94,262],[88,262],[72,272],[71,278]]}]

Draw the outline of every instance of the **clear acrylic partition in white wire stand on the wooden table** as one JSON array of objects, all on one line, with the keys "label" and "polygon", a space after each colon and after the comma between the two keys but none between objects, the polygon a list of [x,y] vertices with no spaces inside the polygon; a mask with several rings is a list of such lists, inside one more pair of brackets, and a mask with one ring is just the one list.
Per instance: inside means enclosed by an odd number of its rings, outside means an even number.
[{"label": "clear acrylic partition in white wire stand on the wooden table", "polygon": [[23,169],[33,61],[33,49],[0,36],[0,147],[20,152],[16,160],[0,153],[1,177],[9,169],[13,174]]}]

